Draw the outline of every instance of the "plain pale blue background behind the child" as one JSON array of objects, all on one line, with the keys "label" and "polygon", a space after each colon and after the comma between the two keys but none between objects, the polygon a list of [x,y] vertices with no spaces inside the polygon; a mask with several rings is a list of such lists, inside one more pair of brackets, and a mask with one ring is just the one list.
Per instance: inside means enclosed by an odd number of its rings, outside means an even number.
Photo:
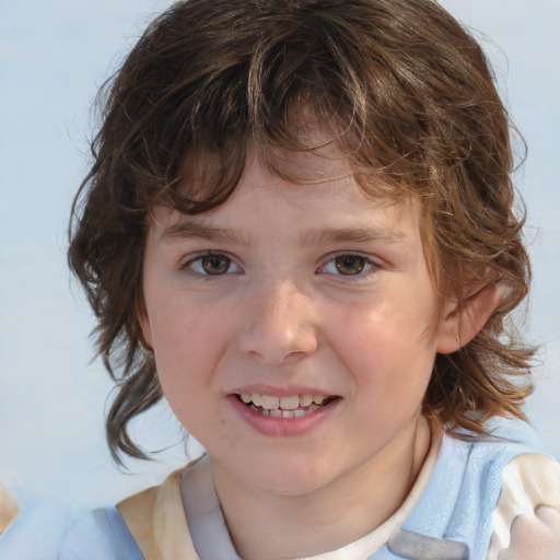
[{"label": "plain pale blue background behind the child", "polygon": [[[0,0],[0,480],[20,494],[112,503],[168,463],[112,465],[103,415],[108,376],[92,358],[86,303],[66,266],[67,221],[86,171],[91,102],[164,0]],[[544,343],[527,412],[560,457],[560,0],[445,0],[471,24],[528,158],[515,182],[528,209],[535,281],[527,331]],[[180,440],[165,407],[136,425]],[[184,462],[180,444],[164,454]],[[25,499],[25,498],[24,498]]]}]

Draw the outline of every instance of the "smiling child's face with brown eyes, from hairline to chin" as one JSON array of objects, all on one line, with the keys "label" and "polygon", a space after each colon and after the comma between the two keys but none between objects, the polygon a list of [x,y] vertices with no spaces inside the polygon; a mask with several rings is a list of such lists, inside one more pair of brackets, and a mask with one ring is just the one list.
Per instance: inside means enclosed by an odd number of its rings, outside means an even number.
[{"label": "smiling child's face with brown eyes, from hairline to chin", "polygon": [[[406,450],[439,345],[419,206],[368,198],[343,161],[294,165],[324,180],[293,185],[253,160],[211,212],[156,207],[143,279],[174,412],[214,472],[277,493]],[[295,416],[255,406],[279,399]]]}]

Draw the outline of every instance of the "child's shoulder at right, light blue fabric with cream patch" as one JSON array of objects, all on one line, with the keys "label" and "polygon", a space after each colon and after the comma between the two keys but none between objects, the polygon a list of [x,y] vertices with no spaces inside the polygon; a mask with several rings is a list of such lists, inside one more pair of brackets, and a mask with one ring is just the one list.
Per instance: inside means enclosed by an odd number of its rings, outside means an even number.
[{"label": "child's shoulder at right, light blue fabric with cream patch", "polygon": [[457,503],[466,513],[455,517],[471,517],[465,523],[478,535],[472,547],[480,558],[486,549],[488,560],[558,560],[560,465],[527,439],[451,442],[448,447],[460,450],[465,466]]}]

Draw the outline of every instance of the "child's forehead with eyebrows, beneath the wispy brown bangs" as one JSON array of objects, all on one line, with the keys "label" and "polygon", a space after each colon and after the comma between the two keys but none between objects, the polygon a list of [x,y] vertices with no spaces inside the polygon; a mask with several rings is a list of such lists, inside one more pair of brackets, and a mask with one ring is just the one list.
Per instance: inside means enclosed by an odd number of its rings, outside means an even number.
[{"label": "child's forehead with eyebrows, beneath the wispy brown bangs", "polygon": [[[368,194],[349,160],[301,152],[282,163],[283,173],[298,183],[252,154],[229,200],[196,215],[156,207],[152,230],[163,240],[196,236],[245,245],[259,238],[419,245],[419,203]],[[383,190],[380,174],[372,182]]]}]

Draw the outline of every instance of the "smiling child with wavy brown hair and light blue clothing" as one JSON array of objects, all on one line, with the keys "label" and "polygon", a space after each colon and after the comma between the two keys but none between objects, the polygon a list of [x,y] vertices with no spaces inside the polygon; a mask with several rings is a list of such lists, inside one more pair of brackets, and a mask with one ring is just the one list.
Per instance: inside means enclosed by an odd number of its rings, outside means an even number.
[{"label": "smiling child with wavy brown hair and light blue clothing", "polygon": [[557,559],[524,418],[508,117],[431,0],[189,0],[104,95],[70,265],[119,384],[206,448],[60,558]]}]

